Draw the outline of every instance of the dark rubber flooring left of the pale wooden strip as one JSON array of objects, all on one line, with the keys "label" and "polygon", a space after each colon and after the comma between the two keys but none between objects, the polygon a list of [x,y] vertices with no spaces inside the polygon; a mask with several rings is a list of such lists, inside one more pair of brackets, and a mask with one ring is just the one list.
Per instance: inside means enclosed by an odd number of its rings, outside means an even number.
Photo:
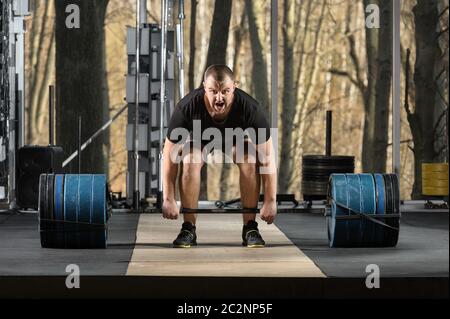
[{"label": "dark rubber flooring left of the pale wooden strip", "polygon": [[125,275],[134,249],[137,214],[115,214],[109,223],[108,249],[43,249],[35,214],[0,214],[0,276],[67,275],[76,264],[86,276]]}]

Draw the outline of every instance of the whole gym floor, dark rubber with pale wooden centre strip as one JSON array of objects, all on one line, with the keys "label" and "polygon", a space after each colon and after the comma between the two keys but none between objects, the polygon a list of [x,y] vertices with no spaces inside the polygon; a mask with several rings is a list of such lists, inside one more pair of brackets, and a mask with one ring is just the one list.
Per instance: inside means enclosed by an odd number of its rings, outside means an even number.
[{"label": "whole gym floor, dark rubber with pale wooden centre strip", "polygon": [[[394,248],[329,248],[325,218],[317,213],[279,214],[271,226],[260,222],[264,249],[241,246],[237,214],[200,215],[198,246],[191,249],[171,246],[180,225],[156,214],[114,213],[108,249],[42,249],[36,214],[3,212],[0,286],[15,288],[0,295],[28,296],[37,289],[28,287],[32,282],[45,282],[53,289],[40,293],[61,296],[66,266],[76,264],[89,278],[86,285],[105,296],[173,297],[172,285],[189,284],[189,297],[245,297],[259,287],[260,297],[448,298],[448,212],[403,211]],[[379,266],[381,289],[365,286],[369,264]],[[99,282],[107,285],[99,288]],[[127,290],[111,288],[112,282]]]}]

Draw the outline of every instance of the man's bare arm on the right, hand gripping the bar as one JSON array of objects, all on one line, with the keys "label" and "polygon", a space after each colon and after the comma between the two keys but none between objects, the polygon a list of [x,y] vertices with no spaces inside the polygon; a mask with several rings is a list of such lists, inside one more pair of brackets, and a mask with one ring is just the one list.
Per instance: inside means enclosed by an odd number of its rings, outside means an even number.
[{"label": "man's bare arm on the right, hand gripping the bar", "polygon": [[256,149],[258,151],[259,173],[264,188],[264,202],[260,211],[261,219],[265,220],[268,224],[271,224],[277,213],[276,199],[278,179],[272,138],[270,137],[267,142],[257,145]]}]

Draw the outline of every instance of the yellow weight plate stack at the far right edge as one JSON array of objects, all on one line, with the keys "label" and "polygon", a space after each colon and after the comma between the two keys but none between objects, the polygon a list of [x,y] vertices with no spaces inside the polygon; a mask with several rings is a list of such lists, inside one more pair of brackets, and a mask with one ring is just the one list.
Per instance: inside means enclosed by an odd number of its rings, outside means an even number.
[{"label": "yellow weight plate stack at the far right edge", "polygon": [[422,194],[448,196],[448,163],[422,163]]}]

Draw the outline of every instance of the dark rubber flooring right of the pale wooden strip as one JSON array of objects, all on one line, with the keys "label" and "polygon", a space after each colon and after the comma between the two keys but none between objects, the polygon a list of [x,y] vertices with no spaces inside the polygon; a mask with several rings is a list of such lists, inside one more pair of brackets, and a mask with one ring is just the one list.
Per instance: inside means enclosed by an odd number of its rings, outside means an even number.
[{"label": "dark rubber flooring right of the pale wooden strip", "polygon": [[381,278],[448,277],[448,213],[403,213],[393,248],[329,248],[319,214],[279,215],[276,225],[328,277],[366,277],[370,264],[379,267]]}]

